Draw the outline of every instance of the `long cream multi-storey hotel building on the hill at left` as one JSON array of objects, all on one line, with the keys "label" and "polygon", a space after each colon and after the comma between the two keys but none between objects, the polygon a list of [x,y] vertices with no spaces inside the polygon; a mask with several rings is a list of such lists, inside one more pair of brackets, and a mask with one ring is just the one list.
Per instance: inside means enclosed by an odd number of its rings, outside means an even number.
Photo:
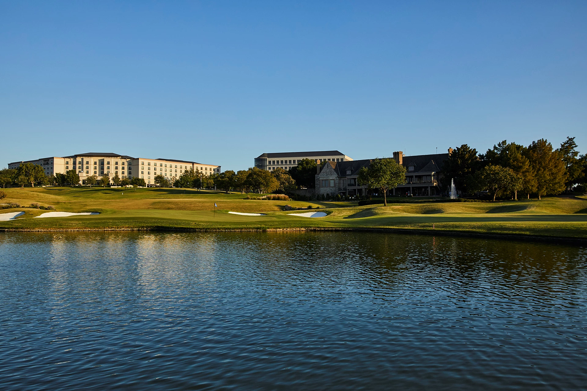
[{"label": "long cream multi-storey hotel building on the hill at left", "polygon": [[141,178],[147,185],[154,185],[156,175],[167,176],[170,179],[177,178],[182,172],[193,169],[203,175],[220,172],[221,166],[213,164],[201,164],[198,162],[177,159],[150,159],[133,158],[127,155],[113,154],[111,152],[87,152],[66,157],[49,157],[28,161],[12,162],[8,168],[18,168],[23,163],[40,165],[46,175],[65,174],[73,169],[85,183],[88,176],[104,175],[112,178],[117,175],[122,178]]}]

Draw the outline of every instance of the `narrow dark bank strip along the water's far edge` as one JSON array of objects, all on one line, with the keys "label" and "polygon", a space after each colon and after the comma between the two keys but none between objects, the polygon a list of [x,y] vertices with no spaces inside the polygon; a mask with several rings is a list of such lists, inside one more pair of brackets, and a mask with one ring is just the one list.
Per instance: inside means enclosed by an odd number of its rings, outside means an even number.
[{"label": "narrow dark bank strip along the water's far edge", "polygon": [[587,245],[587,238],[580,237],[559,237],[559,236],[538,236],[532,234],[504,234],[504,233],[481,233],[441,229],[409,229],[409,228],[378,228],[378,227],[292,227],[292,228],[185,228],[185,227],[148,227],[148,228],[0,228],[0,232],[379,232],[379,233],[399,233],[399,234],[425,234],[428,236],[461,236],[477,237],[487,239],[501,240],[519,240],[522,242],[546,242],[554,244],[575,244]]}]

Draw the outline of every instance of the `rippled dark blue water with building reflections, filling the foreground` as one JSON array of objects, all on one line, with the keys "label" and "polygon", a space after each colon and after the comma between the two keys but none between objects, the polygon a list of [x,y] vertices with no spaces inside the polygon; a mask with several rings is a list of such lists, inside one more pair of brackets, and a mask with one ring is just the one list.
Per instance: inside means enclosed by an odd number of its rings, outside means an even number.
[{"label": "rippled dark blue water with building reflections, filling the foreground", "polygon": [[2,388],[580,389],[586,260],[379,233],[2,234]]}]

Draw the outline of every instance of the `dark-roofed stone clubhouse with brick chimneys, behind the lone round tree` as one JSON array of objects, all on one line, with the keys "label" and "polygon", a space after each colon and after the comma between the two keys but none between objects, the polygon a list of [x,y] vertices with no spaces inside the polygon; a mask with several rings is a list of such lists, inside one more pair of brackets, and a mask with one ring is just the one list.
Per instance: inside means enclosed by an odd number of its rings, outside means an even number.
[{"label": "dark-roofed stone clubhouse with brick chimneys, behind the lone round tree", "polygon": [[[435,196],[442,191],[438,181],[442,175],[440,167],[448,154],[403,156],[402,151],[393,152],[398,164],[406,167],[406,184],[390,189],[390,195]],[[357,178],[363,167],[369,167],[372,159],[333,162],[318,165],[316,193],[329,195],[365,195],[366,187],[359,186]]]}]

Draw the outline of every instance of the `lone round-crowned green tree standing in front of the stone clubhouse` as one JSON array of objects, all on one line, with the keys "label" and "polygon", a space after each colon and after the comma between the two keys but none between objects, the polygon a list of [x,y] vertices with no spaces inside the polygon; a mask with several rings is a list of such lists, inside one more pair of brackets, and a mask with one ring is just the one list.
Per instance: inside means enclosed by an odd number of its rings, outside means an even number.
[{"label": "lone round-crowned green tree standing in front of the stone clubhouse", "polygon": [[387,191],[406,183],[406,168],[392,158],[373,159],[369,167],[359,170],[360,186],[379,189],[383,193],[383,206],[387,206]]}]

